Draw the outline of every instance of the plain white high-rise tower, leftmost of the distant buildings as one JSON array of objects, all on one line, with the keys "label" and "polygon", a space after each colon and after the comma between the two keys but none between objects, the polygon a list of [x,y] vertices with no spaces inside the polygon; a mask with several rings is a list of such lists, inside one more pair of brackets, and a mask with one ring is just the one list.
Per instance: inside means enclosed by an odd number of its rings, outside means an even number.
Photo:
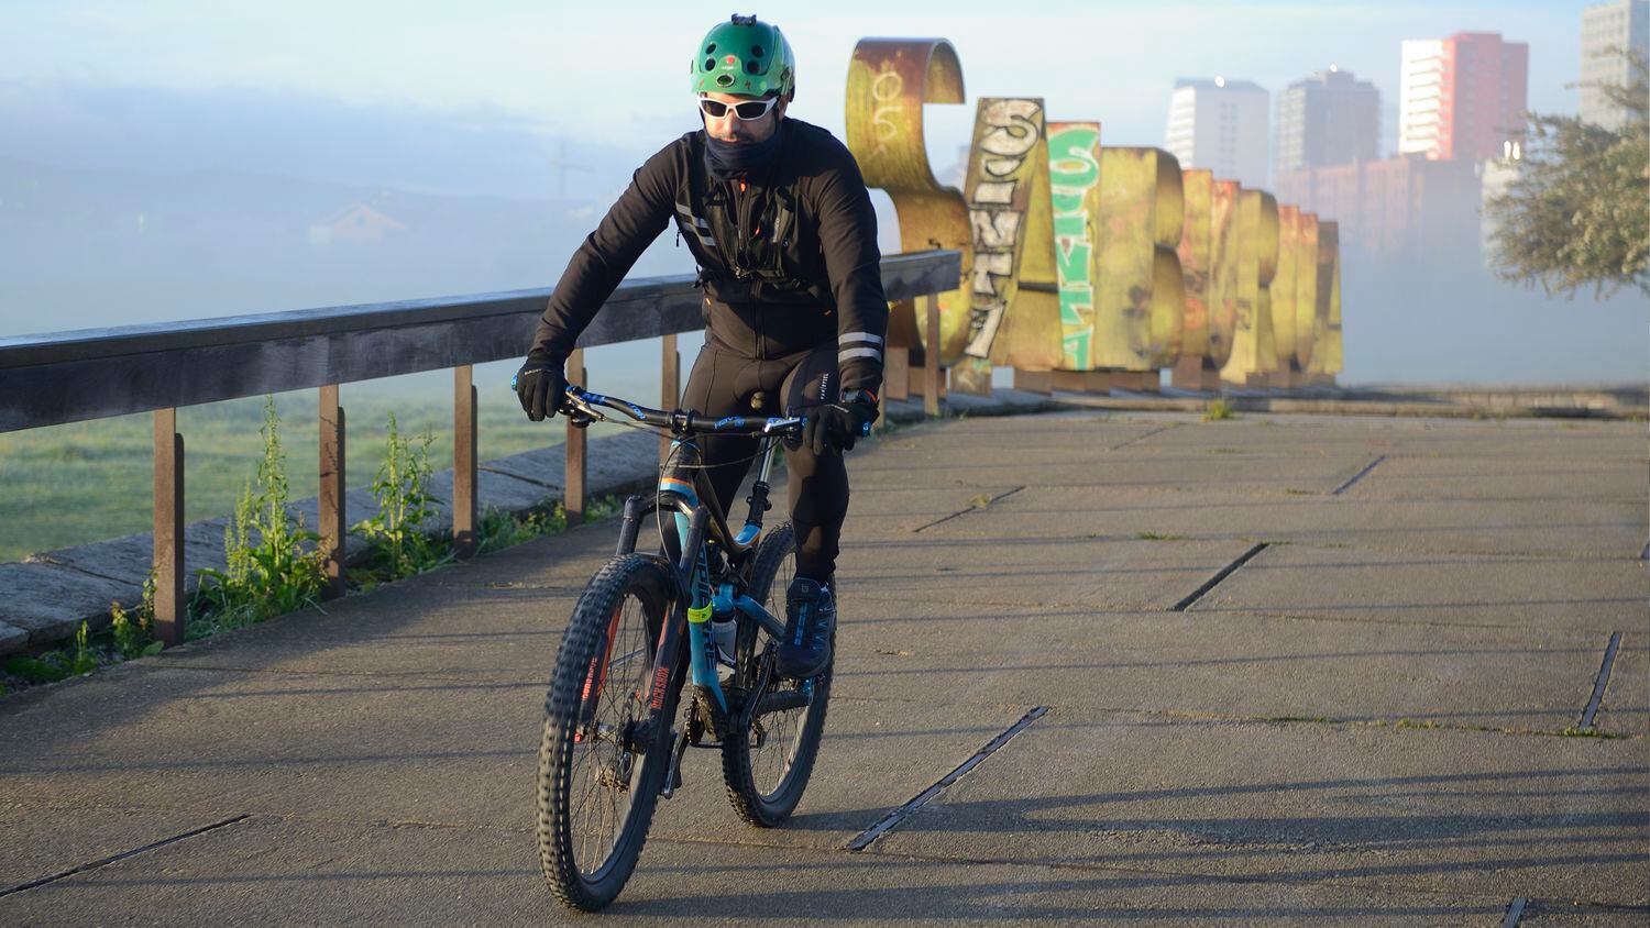
[{"label": "plain white high-rise tower, leftmost of the distant buildings", "polygon": [[1163,148],[1181,168],[1209,168],[1216,178],[1266,186],[1270,94],[1252,81],[1175,81]]}]

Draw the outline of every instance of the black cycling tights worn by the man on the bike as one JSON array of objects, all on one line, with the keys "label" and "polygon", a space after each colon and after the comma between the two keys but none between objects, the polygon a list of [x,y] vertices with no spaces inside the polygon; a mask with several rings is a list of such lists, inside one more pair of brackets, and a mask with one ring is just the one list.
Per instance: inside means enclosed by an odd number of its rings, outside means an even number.
[{"label": "black cycling tights worn by the man on the bike", "polygon": [[[795,415],[808,405],[837,402],[837,343],[774,361],[752,361],[703,348],[693,363],[681,405],[705,415]],[[739,483],[754,465],[757,438],[701,437],[716,499],[739,529],[744,501]],[[837,541],[848,514],[848,468],[842,453],[815,455],[785,448],[790,478],[790,524],[797,529],[797,575],[827,584],[837,569]]]}]

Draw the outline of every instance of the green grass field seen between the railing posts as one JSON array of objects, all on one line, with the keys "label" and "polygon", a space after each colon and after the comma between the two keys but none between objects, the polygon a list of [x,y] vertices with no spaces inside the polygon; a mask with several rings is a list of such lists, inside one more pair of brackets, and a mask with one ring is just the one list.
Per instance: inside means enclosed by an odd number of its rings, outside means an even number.
[{"label": "green grass field seen between the railing posts", "polygon": [[[497,394],[497,396],[495,396]],[[315,496],[318,483],[315,391],[276,397],[287,450],[292,498]],[[345,475],[351,488],[368,486],[384,458],[389,412],[404,434],[429,429],[436,470],[452,466],[452,402],[431,391],[391,396],[351,394]],[[178,410],[185,442],[185,518],[229,514],[236,493],[257,468],[262,442],[262,397]],[[592,427],[592,437],[617,427]],[[561,443],[561,419],[528,422],[508,391],[480,391],[478,452],[493,460]],[[0,435],[0,560],[38,551],[86,544],[137,532],[153,523],[153,419],[122,415]],[[365,513],[351,513],[360,518]],[[314,526],[310,526],[314,527]]]}]

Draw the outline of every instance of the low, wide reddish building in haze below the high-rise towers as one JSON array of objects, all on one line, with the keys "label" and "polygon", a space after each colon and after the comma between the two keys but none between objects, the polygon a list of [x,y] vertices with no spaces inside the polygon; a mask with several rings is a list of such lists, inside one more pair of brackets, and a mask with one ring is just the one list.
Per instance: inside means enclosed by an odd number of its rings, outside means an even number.
[{"label": "low, wide reddish building in haze below the high-rise towers", "polygon": [[1406,155],[1280,173],[1279,203],[1336,219],[1341,249],[1376,262],[1480,262],[1480,165]]}]

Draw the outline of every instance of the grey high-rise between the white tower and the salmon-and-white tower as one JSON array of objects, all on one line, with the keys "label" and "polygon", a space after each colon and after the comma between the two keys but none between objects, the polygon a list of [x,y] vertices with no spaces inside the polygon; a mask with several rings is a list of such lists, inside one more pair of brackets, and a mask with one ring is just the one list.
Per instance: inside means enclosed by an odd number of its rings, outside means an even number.
[{"label": "grey high-rise between the white tower and the salmon-and-white tower", "polygon": [[1277,175],[1381,157],[1381,92],[1330,64],[1277,96]]}]

